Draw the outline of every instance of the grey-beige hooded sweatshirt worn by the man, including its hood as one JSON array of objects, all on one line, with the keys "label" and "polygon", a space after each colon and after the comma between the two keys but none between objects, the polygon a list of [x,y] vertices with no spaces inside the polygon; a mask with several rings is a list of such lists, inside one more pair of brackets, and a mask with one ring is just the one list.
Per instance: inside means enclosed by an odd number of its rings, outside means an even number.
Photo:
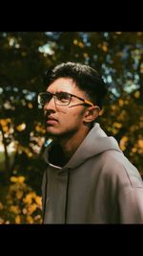
[{"label": "grey-beige hooded sweatshirt worn by the man, including its hood", "polygon": [[51,142],[42,183],[44,223],[143,223],[141,176],[99,124],[64,167],[57,165],[60,154]]}]

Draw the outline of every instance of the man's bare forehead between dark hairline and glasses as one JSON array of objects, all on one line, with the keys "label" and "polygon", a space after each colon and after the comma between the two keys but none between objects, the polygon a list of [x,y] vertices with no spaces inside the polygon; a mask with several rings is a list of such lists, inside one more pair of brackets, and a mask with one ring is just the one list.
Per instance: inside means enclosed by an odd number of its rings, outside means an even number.
[{"label": "man's bare forehead between dark hairline and glasses", "polygon": [[51,82],[50,86],[48,86],[47,91],[51,93],[65,91],[69,93],[84,93],[82,92],[71,78],[59,78],[53,82]]}]

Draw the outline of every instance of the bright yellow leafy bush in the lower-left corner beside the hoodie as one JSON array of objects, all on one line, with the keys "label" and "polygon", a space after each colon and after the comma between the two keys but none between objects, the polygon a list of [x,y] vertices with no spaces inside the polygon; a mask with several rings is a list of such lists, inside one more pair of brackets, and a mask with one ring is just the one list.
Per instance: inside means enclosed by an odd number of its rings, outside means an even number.
[{"label": "bright yellow leafy bush in the lower-left corner beside the hoodie", "polygon": [[41,223],[41,198],[24,176],[11,176],[10,185],[1,191],[0,223]]}]

